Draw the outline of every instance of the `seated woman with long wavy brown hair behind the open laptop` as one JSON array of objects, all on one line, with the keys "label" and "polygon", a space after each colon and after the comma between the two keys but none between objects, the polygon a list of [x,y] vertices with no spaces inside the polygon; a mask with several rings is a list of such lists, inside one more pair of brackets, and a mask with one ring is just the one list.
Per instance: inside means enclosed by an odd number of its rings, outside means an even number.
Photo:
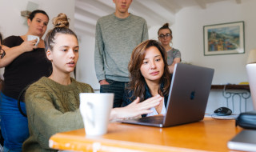
[{"label": "seated woman with long wavy brown hair behind the open laptop", "polygon": [[125,90],[122,106],[133,103],[135,98],[144,100],[160,94],[164,100],[151,108],[153,113],[142,117],[165,114],[170,90],[170,73],[166,62],[166,50],[155,40],[147,40],[135,47],[128,69],[130,82]]}]

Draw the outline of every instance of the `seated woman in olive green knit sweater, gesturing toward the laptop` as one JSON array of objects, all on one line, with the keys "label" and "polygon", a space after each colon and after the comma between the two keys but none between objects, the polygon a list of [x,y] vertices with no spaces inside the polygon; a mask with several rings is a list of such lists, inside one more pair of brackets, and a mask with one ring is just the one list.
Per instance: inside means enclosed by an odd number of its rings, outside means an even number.
[{"label": "seated woman in olive green knit sweater, gesturing toward the laptop", "polygon": [[[49,78],[43,77],[26,90],[26,110],[30,137],[23,143],[22,150],[57,151],[49,147],[49,138],[58,132],[77,130],[84,127],[79,112],[79,94],[94,92],[85,83],[70,78],[78,61],[78,38],[68,28],[66,14],[54,18],[54,29],[46,35],[46,57],[53,66]],[[152,112],[151,107],[162,101],[161,96],[139,102],[137,98],[129,106],[111,110],[110,119],[132,118]]]}]

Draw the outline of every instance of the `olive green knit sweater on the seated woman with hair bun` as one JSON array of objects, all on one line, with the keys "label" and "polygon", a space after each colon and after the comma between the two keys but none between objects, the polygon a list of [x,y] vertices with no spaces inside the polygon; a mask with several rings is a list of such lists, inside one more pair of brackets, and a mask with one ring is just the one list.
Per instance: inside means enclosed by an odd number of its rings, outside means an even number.
[{"label": "olive green knit sweater on the seated woman with hair bun", "polygon": [[84,127],[78,109],[82,92],[94,90],[74,78],[68,86],[46,77],[34,82],[25,95],[30,137],[23,143],[22,151],[57,151],[49,148],[50,136]]}]

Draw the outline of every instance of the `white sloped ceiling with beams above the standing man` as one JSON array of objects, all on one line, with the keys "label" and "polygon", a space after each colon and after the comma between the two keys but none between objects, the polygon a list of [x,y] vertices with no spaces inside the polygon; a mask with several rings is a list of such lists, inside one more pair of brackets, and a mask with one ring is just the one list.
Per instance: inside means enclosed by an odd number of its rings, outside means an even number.
[{"label": "white sloped ceiling with beams above the standing man", "polygon": [[[174,15],[184,7],[197,6],[207,9],[207,5],[230,1],[240,4],[242,0],[133,0],[129,12],[146,19],[147,26],[159,26],[165,22],[174,23]],[[160,11],[159,11],[160,10]],[[112,0],[75,0],[74,30],[82,35],[94,36],[98,18],[114,13]]]}]

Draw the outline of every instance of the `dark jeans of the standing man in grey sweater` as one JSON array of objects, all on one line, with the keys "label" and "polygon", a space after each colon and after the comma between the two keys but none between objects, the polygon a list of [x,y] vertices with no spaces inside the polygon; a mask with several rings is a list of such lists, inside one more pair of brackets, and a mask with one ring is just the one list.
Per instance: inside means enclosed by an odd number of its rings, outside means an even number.
[{"label": "dark jeans of the standing man in grey sweater", "polygon": [[128,82],[117,82],[114,80],[106,79],[109,85],[102,85],[100,88],[101,93],[114,93],[113,108],[122,106],[122,97]]}]

